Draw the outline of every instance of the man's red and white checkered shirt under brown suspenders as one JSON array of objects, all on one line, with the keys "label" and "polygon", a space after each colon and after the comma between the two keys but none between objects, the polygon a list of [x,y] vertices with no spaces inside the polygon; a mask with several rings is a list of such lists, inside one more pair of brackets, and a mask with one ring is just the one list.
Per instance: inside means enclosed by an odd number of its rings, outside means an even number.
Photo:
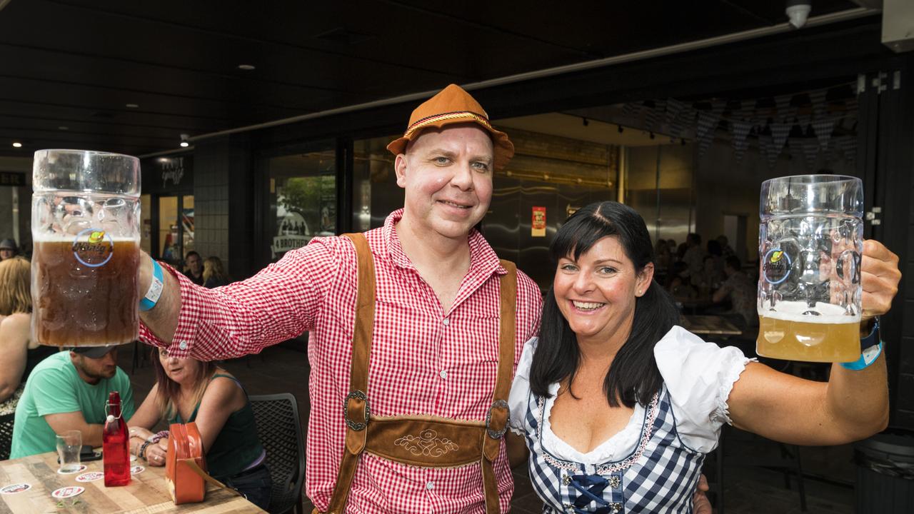
[{"label": "man's red and white checkered shirt under brown suspenders", "polygon": [[[450,312],[403,253],[394,225],[367,232],[375,258],[376,315],[368,375],[371,413],[431,414],[482,421],[492,402],[498,360],[499,284],[505,268],[473,230],[470,270]],[[330,502],[344,452],[343,404],[356,318],[356,251],[341,237],[315,238],[243,282],[218,289],[181,285],[181,316],[168,351],[175,357],[225,359],[260,352],[311,331],[305,489],[314,506]],[[542,297],[517,273],[515,366],[524,343],[537,335]],[[141,327],[141,338],[165,343]],[[494,462],[501,511],[514,492],[505,445]],[[484,512],[478,464],[433,469],[363,454],[346,512]]]}]

